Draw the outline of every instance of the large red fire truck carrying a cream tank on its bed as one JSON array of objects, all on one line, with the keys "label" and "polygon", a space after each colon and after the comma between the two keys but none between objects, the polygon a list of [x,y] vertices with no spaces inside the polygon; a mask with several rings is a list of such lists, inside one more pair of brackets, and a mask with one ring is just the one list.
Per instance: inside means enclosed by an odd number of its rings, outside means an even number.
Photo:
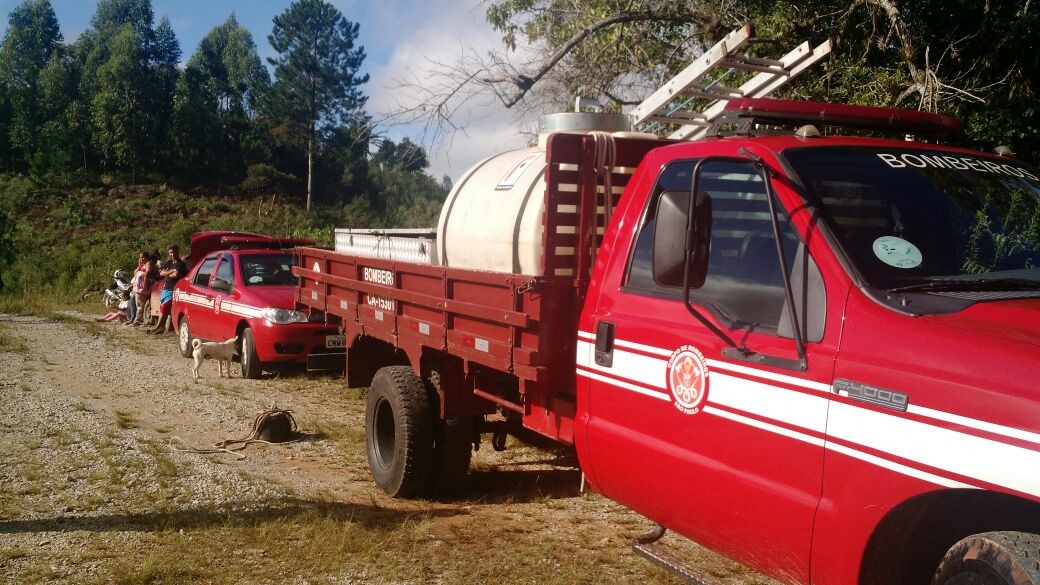
[{"label": "large red fire truck carrying a cream tank on its bed", "polygon": [[[727,111],[489,158],[431,264],[297,249],[297,308],[371,386],[375,483],[421,497],[482,433],[536,433],[677,570],[665,528],[786,583],[1040,583],[1040,171],[942,146],[942,116]],[[467,239],[518,188],[505,244]]]}]

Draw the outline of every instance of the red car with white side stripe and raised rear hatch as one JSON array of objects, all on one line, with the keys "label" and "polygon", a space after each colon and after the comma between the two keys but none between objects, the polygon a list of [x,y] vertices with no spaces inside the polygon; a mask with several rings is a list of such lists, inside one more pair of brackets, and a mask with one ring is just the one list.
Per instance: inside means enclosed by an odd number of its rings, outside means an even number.
[{"label": "red car with white side stripe and raised rear hatch", "polygon": [[243,378],[259,378],[275,363],[309,370],[342,367],[343,335],[336,326],[310,323],[294,310],[294,258],[287,249],[313,244],[241,232],[191,237],[187,276],[174,287],[172,319],[181,355],[191,341],[238,337]]}]

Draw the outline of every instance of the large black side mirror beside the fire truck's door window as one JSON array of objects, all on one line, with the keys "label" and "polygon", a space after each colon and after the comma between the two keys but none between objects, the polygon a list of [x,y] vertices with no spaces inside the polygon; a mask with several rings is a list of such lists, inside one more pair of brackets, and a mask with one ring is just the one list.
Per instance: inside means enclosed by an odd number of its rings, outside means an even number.
[{"label": "large black side mirror beside the fire truck's door window", "polygon": [[710,244],[711,198],[697,192],[691,205],[690,192],[662,193],[657,200],[653,229],[654,282],[661,286],[682,286],[688,261],[690,288],[703,286]]}]

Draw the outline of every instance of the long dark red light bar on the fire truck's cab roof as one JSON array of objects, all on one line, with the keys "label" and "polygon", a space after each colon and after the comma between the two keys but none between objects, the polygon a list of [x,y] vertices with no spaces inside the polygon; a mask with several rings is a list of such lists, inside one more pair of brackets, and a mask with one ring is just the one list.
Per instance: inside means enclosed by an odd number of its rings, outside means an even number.
[{"label": "long dark red light bar on the fire truck's cab roof", "polygon": [[960,120],[941,113],[915,109],[870,107],[775,99],[739,99],[726,104],[723,116],[706,135],[723,135],[723,126],[733,125],[732,134],[749,135],[756,125],[796,127],[806,124],[854,128],[878,132],[913,134],[930,137],[961,133]]}]

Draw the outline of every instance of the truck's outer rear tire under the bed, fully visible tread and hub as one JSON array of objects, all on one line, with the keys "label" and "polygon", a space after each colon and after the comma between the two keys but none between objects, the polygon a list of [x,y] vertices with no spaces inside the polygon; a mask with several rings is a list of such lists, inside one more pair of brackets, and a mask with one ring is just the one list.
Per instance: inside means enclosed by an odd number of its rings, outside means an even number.
[{"label": "truck's outer rear tire under the bed, fully visible tread and hub", "polygon": [[422,380],[407,365],[389,365],[372,378],[365,407],[365,451],[372,479],[392,498],[430,491],[434,416]]}]

